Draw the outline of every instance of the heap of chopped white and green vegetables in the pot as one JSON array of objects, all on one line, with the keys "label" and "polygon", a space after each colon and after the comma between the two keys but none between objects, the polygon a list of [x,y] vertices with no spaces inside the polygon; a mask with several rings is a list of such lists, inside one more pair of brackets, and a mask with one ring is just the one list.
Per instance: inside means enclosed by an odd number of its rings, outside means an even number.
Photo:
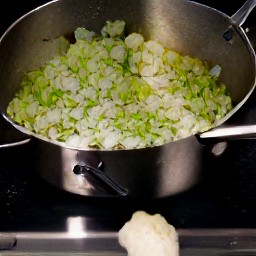
[{"label": "heap of chopped white and green vegetables in the pot", "polygon": [[25,74],[7,114],[66,146],[134,149],[203,132],[230,111],[219,65],[124,28],[121,20],[101,34],[77,28],[65,54]]}]

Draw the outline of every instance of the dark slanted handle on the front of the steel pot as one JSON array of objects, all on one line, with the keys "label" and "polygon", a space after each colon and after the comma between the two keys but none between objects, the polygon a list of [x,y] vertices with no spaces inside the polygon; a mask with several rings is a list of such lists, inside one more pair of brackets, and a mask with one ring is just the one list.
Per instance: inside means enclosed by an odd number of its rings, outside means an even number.
[{"label": "dark slanted handle on the front of the steel pot", "polygon": [[[108,193],[118,195],[118,196],[128,195],[128,190],[126,188],[121,187],[110,176],[104,173],[102,162],[100,162],[97,167],[90,166],[84,162],[79,162],[77,165],[75,165],[73,172],[76,175],[81,175],[81,176],[86,176],[89,174],[94,179],[96,179],[100,183],[100,185],[105,190],[108,191]],[[90,180],[90,183],[91,182],[92,181]]]}]

